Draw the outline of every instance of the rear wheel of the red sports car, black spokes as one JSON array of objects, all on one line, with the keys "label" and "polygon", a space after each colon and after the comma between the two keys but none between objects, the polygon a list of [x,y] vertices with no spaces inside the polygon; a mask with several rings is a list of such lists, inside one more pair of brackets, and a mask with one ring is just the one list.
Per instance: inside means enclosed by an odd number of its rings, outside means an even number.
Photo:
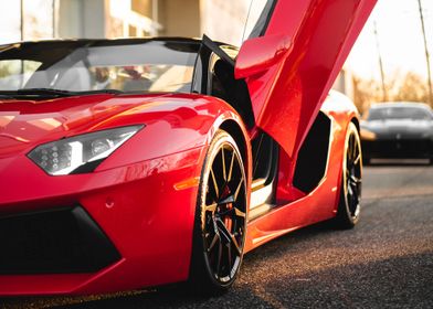
[{"label": "rear wheel of the red sports car, black spokes", "polygon": [[336,227],[352,228],[359,221],[362,189],[362,154],[358,129],[350,122],[345,141]]}]

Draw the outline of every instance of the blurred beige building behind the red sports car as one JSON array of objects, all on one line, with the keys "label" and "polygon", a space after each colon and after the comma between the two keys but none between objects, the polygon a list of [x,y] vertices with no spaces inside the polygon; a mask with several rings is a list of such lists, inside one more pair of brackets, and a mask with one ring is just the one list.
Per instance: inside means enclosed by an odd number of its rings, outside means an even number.
[{"label": "blurred beige building behind the red sports car", "polygon": [[[264,3],[265,0],[0,0],[0,43],[53,38],[200,38],[205,33],[213,40],[241,45]],[[350,76],[350,72],[342,72],[335,88],[352,97]]]}]

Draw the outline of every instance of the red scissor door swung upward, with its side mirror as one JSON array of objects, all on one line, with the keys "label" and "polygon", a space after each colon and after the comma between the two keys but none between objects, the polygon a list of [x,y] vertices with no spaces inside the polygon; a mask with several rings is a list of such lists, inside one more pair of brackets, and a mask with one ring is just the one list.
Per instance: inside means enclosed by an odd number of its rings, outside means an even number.
[{"label": "red scissor door swung upward, with its side mirror", "polygon": [[[257,0],[255,0],[257,1]],[[235,63],[255,126],[293,158],[376,0],[268,0]]]}]

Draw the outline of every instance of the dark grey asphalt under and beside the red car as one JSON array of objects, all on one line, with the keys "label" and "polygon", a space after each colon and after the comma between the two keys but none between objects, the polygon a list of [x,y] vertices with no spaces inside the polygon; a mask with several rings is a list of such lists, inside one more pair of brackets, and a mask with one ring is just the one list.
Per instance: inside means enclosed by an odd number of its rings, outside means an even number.
[{"label": "dark grey asphalt under and beside the red car", "polygon": [[9,298],[0,308],[433,308],[433,167],[367,167],[363,189],[355,230],[319,224],[255,249],[219,298],[169,289]]}]

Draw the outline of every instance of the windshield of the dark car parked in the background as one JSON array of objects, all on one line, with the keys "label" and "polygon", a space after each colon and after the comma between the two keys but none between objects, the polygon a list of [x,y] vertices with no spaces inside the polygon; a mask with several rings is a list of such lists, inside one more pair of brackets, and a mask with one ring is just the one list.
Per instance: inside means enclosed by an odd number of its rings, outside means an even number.
[{"label": "windshield of the dark car parked in the background", "polygon": [[431,120],[432,114],[421,107],[380,107],[371,108],[368,120],[411,119]]}]

